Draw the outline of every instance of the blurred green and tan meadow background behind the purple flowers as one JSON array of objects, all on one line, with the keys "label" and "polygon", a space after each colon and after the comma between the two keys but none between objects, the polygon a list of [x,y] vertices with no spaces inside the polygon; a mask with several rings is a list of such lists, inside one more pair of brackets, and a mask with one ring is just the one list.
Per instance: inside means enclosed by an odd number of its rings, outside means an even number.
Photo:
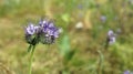
[{"label": "blurred green and tan meadow background behind the purple flowers", "polygon": [[[37,46],[32,74],[133,72],[133,0],[0,0],[0,74],[28,74],[24,28],[44,17],[62,33]],[[116,42],[105,50],[109,30]]]}]

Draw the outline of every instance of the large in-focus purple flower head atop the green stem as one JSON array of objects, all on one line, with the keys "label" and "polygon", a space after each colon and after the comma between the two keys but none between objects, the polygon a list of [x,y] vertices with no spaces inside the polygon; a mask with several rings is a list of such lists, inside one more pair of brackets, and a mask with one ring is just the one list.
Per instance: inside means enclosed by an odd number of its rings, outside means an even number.
[{"label": "large in-focus purple flower head atop the green stem", "polygon": [[54,43],[55,39],[59,38],[59,28],[54,25],[51,20],[41,20],[39,25],[29,24],[25,28],[25,39],[28,43],[42,42],[43,44]]}]

